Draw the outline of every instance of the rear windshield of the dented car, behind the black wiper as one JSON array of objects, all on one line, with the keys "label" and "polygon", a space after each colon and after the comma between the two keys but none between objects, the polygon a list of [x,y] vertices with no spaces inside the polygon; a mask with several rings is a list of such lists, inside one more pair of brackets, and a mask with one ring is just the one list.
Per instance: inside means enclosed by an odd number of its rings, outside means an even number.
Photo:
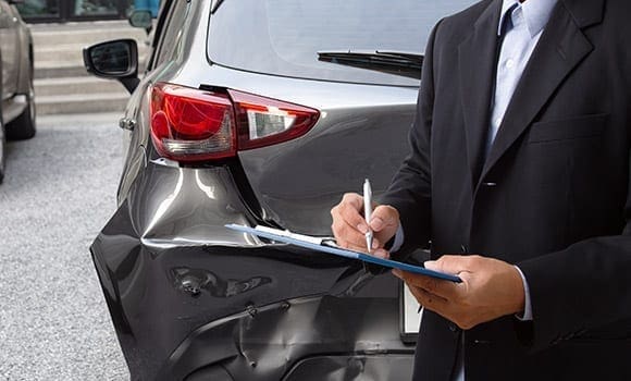
[{"label": "rear windshield of the dented car, behind the black wiper", "polygon": [[418,86],[418,79],[318,60],[318,51],[423,53],[434,24],[473,0],[225,0],[210,20],[214,63],[257,73]]}]

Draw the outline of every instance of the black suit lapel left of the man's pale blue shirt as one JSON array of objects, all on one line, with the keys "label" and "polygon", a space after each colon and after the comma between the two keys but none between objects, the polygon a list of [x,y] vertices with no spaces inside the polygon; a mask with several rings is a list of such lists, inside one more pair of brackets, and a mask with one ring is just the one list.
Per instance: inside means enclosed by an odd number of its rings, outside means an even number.
[{"label": "black suit lapel left of the man's pale blue shirt", "polygon": [[500,8],[502,1],[491,2],[475,22],[473,33],[458,46],[460,97],[472,186],[482,169],[482,153],[488,130]]}]

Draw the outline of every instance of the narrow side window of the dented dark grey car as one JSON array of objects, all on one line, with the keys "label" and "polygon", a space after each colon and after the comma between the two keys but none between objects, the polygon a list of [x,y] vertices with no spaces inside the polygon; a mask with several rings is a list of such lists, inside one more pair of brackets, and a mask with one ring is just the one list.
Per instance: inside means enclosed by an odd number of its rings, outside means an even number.
[{"label": "narrow side window of the dented dark grey car", "polygon": [[189,9],[190,3],[188,1],[173,1],[171,3],[171,9],[168,11],[169,19],[161,30],[162,35],[159,39],[158,50],[152,60],[153,67],[159,66],[164,61],[173,59],[175,52],[180,49],[178,42],[182,39],[184,23]]}]

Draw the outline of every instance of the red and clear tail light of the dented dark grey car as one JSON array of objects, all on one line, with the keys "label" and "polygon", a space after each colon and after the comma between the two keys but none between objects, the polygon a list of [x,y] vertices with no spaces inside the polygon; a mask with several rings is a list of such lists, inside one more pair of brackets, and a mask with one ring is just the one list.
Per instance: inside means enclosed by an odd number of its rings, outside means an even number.
[{"label": "red and clear tail light of the dented dark grey car", "polygon": [[237,90],[159,83],[151,91],[153,145],[161,156],[181,162],[233,157],[237,150],[294,139],[318,118],[318,110]]}]

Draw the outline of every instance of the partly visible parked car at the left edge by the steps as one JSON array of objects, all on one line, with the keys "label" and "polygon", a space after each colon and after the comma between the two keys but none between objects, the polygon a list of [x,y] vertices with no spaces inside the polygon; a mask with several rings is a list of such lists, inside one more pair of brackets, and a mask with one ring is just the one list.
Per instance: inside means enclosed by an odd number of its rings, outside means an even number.
[{"label": "partly visible parked car at the left edge by the steps", "polygon": [[4,179],[7,139],[35,136],[33,89],[33,37],[15,4],[23,0],[0,0],[0,56],[2,109],[0,110],[0,183]]}]

